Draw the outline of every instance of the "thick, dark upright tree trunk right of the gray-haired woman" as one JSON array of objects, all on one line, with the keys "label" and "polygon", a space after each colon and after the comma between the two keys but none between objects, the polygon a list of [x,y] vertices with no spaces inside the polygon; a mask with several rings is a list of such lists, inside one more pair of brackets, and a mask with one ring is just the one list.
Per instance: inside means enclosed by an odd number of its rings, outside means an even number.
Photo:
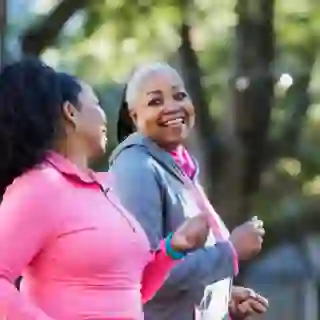
[{"label": "thick, dark upright tree trunk right of the gray-haired woman", "polygon": [[238,0],[233,101],[220,208],[229,226],[253,215],[273,104],[274,0]]}]

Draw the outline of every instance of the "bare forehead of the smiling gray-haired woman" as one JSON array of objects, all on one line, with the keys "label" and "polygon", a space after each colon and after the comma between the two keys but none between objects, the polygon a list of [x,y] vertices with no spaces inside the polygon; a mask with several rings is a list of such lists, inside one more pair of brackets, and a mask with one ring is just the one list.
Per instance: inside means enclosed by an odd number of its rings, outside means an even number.
[{"label": "bare forehead of the smiling gray-haired woman", "polygon": [[180,76],[171,70],[154,71],[147,75],[140,84],[141,92],[147,93],[155,90],[172,90],[183,88],[184,84]]}]

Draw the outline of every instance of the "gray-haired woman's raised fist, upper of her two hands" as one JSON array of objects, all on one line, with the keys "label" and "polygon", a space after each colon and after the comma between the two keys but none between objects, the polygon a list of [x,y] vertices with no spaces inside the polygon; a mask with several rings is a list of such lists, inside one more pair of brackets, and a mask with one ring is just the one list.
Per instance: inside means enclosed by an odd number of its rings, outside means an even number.
[{"label": "gray-haired woman's raised fist, upper of her two hands", "polygon": [[264,234],[263,222],[258,219],[248,221],[232,231],[230,241],[240,260],[248,260],[261,251]]}]

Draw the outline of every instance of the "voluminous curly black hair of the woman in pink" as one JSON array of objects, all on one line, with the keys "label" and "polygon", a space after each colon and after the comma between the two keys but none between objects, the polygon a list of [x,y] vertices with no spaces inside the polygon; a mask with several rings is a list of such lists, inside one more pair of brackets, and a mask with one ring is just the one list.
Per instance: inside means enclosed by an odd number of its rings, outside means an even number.
[{"label": "voluminous curly black hair of the woman in pink", "polygon": [[13,180],[41,163],[64,134],[62,105],[77,105],[76,78],[37,58],[7,65],[0,73],[0,197]]}]

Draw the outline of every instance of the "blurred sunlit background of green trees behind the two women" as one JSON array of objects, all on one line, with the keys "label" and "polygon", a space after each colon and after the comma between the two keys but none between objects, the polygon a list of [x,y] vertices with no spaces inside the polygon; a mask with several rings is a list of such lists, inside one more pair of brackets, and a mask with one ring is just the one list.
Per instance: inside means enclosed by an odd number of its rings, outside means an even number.
[{"label": "blurred sunlit background of green trees behind the two women", "polygon": [[132,69],[154,60],[178,68],[197,108],[191,148],[212,202],[230,228],[253,215],[266,222],[264,251],[239,282],[270,299],[263,319],[320,319],[318,0],[0,3],[1,63],[36,54],[93,85],[110,150]]}]

